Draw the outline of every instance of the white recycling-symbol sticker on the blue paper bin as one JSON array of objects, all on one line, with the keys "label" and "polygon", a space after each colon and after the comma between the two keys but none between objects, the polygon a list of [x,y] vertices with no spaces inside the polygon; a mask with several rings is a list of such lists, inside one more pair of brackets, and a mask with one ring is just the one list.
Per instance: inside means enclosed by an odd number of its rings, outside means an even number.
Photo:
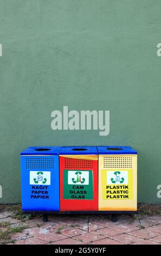
[{"label": "white recycling-symbol sticker on the blue paper bin", "polygon": [[30,185],[50,185],[50,172],[31,170]]}]

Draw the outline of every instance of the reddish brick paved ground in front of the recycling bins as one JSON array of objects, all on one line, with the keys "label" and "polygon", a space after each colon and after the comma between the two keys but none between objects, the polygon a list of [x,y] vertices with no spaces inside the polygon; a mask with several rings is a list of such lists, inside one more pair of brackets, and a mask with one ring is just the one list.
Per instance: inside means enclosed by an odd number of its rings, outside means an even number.
[{"label": "reddish brick paved ground in front of the recycling bins", "polygon": [[[22,230],[18,230],[21,228]],[[111,222],[106,215],[56,215],[47,223],[42,217],[18,220],[12,211],[0,214],[0,235],[10,230],[1,243],[54,245],[161,245],[161,216],[119,216]],[[17,230],[17,231],[16,231]],[[7,233],[6,233],[7,234]]]}]

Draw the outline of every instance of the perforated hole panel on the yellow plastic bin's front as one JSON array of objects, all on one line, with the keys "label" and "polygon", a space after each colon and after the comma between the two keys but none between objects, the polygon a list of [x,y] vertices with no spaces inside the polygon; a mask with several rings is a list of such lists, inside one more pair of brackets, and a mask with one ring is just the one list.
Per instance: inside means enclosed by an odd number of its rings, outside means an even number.
[{"label": "perforated hole panel on the yellow plastic bin's front", "polygon": [[132,168],[131,156],[104,157],[104,168]]}]

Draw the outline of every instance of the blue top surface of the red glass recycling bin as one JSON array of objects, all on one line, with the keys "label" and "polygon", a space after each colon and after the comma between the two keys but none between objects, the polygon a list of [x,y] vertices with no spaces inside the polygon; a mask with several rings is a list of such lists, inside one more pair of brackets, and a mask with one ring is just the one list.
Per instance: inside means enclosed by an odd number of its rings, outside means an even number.
[{"label": "blue top surface of the red glass recycling bin", "polygon": [[60,155],[98,155],[96,147],[62,147]]}]

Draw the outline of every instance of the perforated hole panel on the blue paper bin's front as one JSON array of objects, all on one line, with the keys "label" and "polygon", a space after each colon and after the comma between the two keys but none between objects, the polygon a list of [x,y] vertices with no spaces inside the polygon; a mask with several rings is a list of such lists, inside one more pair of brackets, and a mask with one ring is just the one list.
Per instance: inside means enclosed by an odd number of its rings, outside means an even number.
[{"label": "perforated hole panel on the blue paper bin's front", "polygon": [[54,157],[27,157],[26,169],[54,169]]}]

